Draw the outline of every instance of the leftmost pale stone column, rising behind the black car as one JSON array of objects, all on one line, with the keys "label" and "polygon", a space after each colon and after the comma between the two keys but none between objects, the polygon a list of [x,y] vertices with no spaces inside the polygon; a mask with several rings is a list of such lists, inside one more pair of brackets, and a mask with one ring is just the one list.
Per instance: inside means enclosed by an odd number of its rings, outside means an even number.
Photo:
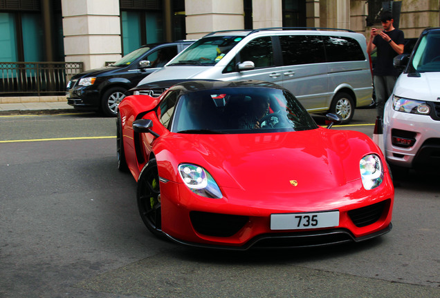
[{"label": "leftmost pale stone column, rising behind the black car", "polygon": [[121,57],[118,0],[62,0],[66,62],[82,61],[84,70]]}]

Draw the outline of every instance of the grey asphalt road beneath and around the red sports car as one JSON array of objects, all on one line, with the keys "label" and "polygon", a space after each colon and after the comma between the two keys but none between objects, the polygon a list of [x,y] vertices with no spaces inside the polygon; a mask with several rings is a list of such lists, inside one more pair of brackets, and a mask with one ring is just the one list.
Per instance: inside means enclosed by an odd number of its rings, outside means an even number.
[{"label": "grey asphalt road beneath and around the red sports car", "polygon": [[[371,136],[374,119],[343,128]],[[143,226],[115,135],[94,114],[0,117],[0,297],[440,297],[438,175],[396,181],[394,229],[373,241],[200,250]]]}]

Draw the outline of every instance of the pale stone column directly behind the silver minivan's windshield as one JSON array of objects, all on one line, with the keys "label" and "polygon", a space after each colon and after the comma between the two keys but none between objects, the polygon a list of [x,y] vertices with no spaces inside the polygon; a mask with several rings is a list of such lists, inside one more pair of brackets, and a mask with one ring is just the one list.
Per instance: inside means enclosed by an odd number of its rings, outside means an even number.
[{"label": "pale stone column directly behind the silver minivan's windshield", "polygon": [[199,39],[212,31],[244,29],[243,1],[185,0],[185,13],[187,39]]}]

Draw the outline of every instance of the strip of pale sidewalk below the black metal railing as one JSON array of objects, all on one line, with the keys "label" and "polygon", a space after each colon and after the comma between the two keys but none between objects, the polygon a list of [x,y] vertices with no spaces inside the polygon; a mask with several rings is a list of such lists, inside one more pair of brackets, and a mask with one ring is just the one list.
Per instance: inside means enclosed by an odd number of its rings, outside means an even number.
[{"label": "strip of pale sidewalk below the black metal railing", "polygon": [[57,112],[77,112],[67,101],[0,103],[0,115],[53,114]]}]

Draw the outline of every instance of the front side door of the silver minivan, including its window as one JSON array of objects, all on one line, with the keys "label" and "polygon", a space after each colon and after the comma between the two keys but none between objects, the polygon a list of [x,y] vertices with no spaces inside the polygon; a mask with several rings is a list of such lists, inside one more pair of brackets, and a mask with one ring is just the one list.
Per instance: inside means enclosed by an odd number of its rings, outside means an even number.
[{"label": "front side door of the silver minivan, including its window", "polygon": [[[223,70],[221,79],[224,81],[237,81],[255,79],[282,83],[282,66],[274,57],[272,37],[257,37],[249,41],[232,59]],[[237,64],[244,61],[253,61],[255,68],[250,70],[237,70]]]}]

